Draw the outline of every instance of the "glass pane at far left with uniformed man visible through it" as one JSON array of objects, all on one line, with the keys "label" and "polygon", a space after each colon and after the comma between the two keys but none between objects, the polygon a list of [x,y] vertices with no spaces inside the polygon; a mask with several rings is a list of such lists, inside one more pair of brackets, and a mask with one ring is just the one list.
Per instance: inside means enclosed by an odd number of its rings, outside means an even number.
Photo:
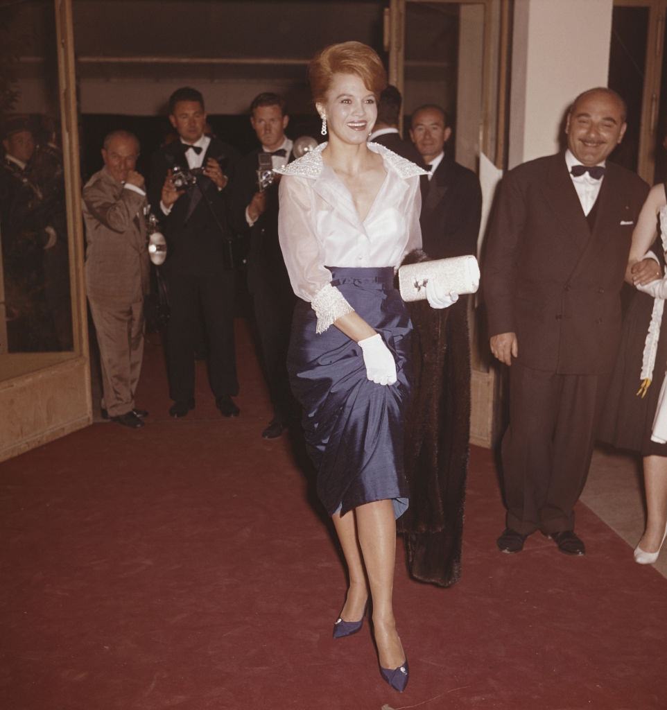
[{"label": "glass pane at far left with uniformed man visible through it", "polygon": [[0,8],[0,379],[72,356],[53,2]]}]

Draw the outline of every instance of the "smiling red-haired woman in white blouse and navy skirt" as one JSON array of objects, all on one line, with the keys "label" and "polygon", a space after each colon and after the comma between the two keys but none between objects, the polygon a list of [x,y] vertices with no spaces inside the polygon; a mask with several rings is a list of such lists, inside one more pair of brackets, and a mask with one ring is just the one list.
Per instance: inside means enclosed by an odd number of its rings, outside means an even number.
[{"label": "smiling red-haired woman in white blouse and navy skirt", "polygon": [[[331,45],[310,63],[329,140],[281,169],[278,231],[294,292],[288,371],[318,469],[318,495],[345,554],[349,587],[334,638],[362,628],[369,593],[382,676],[402,691],[408,663],[391,596],[396,518],[408,505],[403,415],[411,323],[394,271],[421,247],[424,171],[367,143],[386,86],[367,45]],[[435,307],[455,297],[429,292]]]}]

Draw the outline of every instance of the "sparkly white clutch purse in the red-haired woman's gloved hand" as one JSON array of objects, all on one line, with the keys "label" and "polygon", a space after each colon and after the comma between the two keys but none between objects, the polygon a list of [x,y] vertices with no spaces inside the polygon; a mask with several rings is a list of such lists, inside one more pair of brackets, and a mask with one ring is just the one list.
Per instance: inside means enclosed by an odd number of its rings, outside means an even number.
[{"label": "sparkly white clutch purse in the red-haired woman's gloved hand", "polygon": [[420,261],[403,264],[398,269],[398,288],[404,301],[420,301],[426,297],[426,283],[438,281],[440,292],[475,293],[479,288],[479,264],[477,259],[467,256],[452,256],[448,259]]}]

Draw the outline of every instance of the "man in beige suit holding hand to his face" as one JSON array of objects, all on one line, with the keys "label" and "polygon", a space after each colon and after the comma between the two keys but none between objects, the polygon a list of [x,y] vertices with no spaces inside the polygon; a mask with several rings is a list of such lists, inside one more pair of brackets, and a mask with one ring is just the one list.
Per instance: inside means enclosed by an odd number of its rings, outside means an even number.
[{"label": "man in beige suit holding hand to his face", "polygon": [[97,330],[104,402],[102,416],[133,429],[147,412],[134,407],[143,356],[143,296],[148,249],[143,176],[134,170],[139,141],[127,131],[104,138],[104,168],[83,188],[86,281]]}]

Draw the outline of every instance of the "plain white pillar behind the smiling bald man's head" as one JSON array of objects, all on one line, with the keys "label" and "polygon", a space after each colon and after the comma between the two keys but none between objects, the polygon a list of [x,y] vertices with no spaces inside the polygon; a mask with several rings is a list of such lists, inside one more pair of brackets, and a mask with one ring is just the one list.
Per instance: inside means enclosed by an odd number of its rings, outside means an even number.
[{"label": "plain white pillar behind the smiling bald man's head", "polygon": [[516,0],[509,167],[558,151],[566,109],[607,86],[613,0]]}]

